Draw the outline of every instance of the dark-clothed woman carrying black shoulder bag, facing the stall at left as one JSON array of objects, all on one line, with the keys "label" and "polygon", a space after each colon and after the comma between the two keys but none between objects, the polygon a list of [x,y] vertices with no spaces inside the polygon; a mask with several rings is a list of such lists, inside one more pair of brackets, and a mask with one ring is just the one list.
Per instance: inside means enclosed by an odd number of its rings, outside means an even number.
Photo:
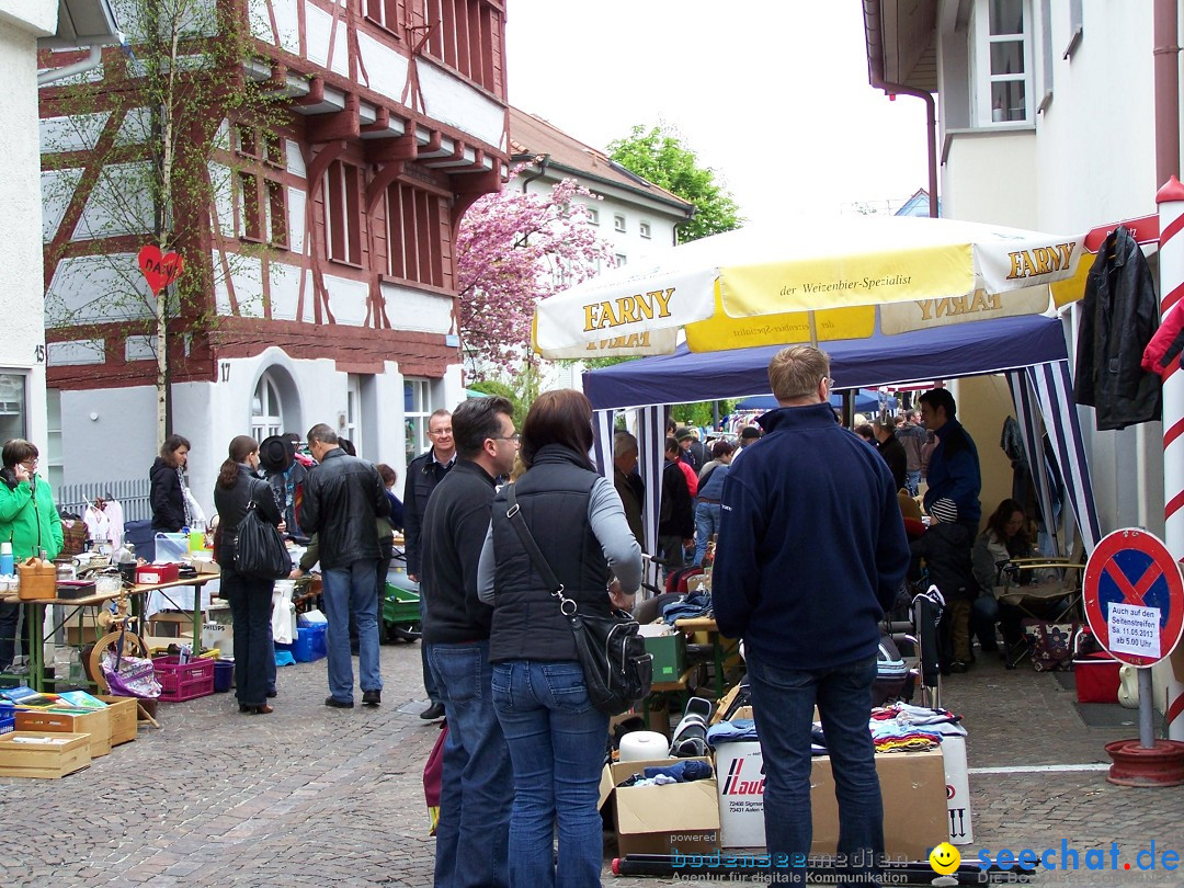
[{"label": "dark-clothed woman carrying black shoulder bag, facing the stall at left", "polygon": [[234,541],[238,526],[253,503],[259,519],[283,529],[279,508],[271,487],[256,472],[259,469],[259,445],[249,435],[230,443],[230,453],[218,471],[214,508],[218,509],[218,565],[221,568],[221,597],[230,601],[234,619],[234,693],[238,710],[266,715],[269,661],[275,663],[271,646],[271,580],[249,577],[234,570]]}]

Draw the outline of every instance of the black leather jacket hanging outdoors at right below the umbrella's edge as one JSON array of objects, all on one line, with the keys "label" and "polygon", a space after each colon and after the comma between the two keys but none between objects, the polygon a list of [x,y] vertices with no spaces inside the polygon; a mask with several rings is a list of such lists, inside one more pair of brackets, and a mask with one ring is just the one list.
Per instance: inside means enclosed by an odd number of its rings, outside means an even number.
[{"label": "black leather jacket hanging outdoors at right below the umbrella's edge", "polygon": [[1159,328],[1159,300],[1138,243],[1119,226],[1089,270],[1077,330],[1073,395],[1096,411],[1099,431],[1159,419],[1160,380],[1143,369]]}]

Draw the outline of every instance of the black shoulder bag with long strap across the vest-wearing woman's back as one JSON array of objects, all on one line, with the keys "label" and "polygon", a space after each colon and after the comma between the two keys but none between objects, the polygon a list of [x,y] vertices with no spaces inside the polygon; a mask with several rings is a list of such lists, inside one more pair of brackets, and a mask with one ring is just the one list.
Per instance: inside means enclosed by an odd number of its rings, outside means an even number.
[{"label": "black shoulder bag with long strap across the vest-wearing woman's back", "polygon": [[530,561],[551,587],[551,596],[559,601],[559,610],[567,618],[575,639],[575,652],[584,668],[584,684],[588,700],[607,715],[619,715],[650,693],[654,681],[654,655],[645,652],[645,639],[637,633],[637,620],[629,613],[613,610],[607,617],[579,613],[575,601],[564,594],[564,584],[539,551],[530,528],[526,526],[522,509],[514,497],[514,485],[506,490],[509,508],[506,517],[526,547]]}]

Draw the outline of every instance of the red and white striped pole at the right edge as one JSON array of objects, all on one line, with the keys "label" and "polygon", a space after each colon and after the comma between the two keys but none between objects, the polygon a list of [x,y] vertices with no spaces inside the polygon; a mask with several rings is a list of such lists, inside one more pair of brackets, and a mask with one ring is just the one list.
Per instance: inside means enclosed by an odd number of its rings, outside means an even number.
[{"label": "red and white striped pole at the right edge", "polygon": [[[1184,300],[1184,185],[1173,175],[1156,194],[1159,208],[1160,316],[1167,320]],[[1179,358],[1164,375],[1164,542],[1177,559],[1184,558],[1184,373]],[[1167,736],[1184,740],[1184,644],[1171,657],[1167,670]]]}]

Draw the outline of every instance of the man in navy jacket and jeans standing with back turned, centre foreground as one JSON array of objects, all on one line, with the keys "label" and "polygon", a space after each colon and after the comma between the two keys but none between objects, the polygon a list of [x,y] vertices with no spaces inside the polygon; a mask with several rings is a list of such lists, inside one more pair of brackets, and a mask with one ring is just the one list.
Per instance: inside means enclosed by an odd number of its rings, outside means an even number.
[{"label": "man in navy jacket and jeans standing with back turned, centre foreground", "polygon": [[905,525],[883,459],[835,422],[826,354],[785,348],[768,379],[781,406],[758,420],[760,446],[723,483],[715,619],[745,643],[771,875],[805,884],[817,703],[843,824],[838,852],[870,882],[884,847],[868,719],[877,624],[908,570]]}]

